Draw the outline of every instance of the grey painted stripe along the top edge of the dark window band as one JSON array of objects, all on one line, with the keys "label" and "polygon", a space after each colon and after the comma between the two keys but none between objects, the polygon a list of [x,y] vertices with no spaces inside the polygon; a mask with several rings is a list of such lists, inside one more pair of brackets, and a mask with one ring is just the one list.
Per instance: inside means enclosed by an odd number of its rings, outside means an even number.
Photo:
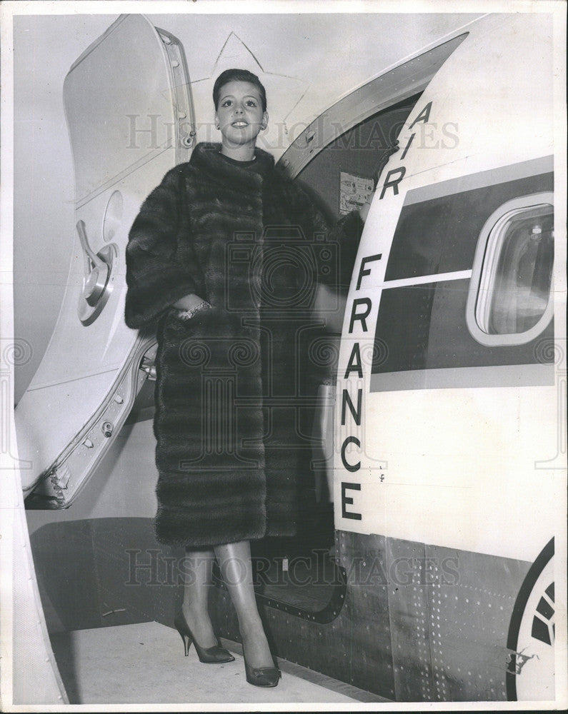
[{"label": "grey painted stripe along the top edge of the dark window band", "polygon": [[501,166],[499,169],[480,171],[479,174],[459,176],[459,178],[450,178],[449,181],[414,188],[404,198],[404,206],[412,206],[413,203],[422,203],[422,201],[432,201],[432,198],[451,196],[453,193],[471,191],[472,188],[484,188],[497,183],[515,181],[517,178],[549,174],[552,171],[554,171],[554,156],[542,156],[539,159],[522,161],[520,164]]}]

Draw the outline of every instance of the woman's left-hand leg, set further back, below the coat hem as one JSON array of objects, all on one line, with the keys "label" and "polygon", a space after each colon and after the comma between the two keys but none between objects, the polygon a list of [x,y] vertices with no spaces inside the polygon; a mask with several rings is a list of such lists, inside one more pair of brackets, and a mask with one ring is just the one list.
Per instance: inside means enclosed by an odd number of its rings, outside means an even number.
[{"label": "woman's left-hand leg, set further back, below the coat hem", "polygon": [[204,648],[217,644],[207,608],[214,558],[213,550],[186,550],[184,560],[184,603],[181,610],[196,642]]}]

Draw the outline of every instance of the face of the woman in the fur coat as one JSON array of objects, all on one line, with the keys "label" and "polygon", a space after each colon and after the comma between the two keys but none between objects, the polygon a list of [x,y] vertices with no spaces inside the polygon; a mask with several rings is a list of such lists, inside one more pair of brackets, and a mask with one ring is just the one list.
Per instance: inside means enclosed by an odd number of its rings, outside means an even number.
[{"label": "face of the woman in the fur coat", "polygon": [[261,96],[256,86],[244,81],[224,84],[219,93],[215,123],[221,129],[225,146],[254,146],[259,131],[268,124],[268,114],[262,111]]}]

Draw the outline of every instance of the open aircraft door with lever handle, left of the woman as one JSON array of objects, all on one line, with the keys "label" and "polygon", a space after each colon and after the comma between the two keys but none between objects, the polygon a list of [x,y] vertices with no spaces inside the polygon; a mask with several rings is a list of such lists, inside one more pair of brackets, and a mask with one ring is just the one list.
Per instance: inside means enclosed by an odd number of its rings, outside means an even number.
[{"label": "open aircraft door with lever handle, left of the woman", "polygon": [[155,337],[124,323],[124,253],[141,202],[195,136],[184,51],[143,15],[120,16],[86,49],[64,105],[76,235],[54,333],[15,412],[22,488],[40,508],[69,506],[151,375]]}]

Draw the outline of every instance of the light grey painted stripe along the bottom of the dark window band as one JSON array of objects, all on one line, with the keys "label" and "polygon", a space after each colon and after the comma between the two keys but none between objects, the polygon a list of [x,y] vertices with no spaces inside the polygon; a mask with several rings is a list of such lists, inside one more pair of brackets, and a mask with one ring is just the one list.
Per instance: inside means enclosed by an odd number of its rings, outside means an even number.
[{"label": "light grey painted stripe along the bottom of the dark window band", "polygon": [[372,374],[372,392],[554,385],[551,364],[414,369]]}]

